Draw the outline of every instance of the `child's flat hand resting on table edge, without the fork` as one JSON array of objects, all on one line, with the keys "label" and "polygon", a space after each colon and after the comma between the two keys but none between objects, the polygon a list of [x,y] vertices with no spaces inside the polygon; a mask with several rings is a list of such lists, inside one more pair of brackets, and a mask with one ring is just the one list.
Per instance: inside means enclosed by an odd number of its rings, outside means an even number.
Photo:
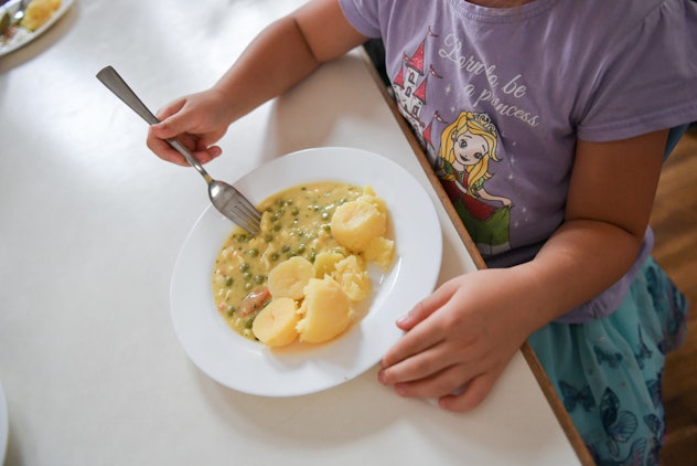
[{"label": "child's flat hand resting on table edge, without the fork", "polygon": [[462,275],[419,303],[397,321],[406,335],[383,358],[379,381],[403,396],[439,398],[451,411],[479,405],[534,330],[512,276]]}]

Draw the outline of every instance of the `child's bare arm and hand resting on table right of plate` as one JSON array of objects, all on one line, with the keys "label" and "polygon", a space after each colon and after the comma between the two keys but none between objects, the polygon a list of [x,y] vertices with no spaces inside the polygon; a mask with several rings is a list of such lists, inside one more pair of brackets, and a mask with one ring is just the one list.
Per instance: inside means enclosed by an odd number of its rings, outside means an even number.
[{"label": "child's bare arm and hand resting on table right of plate", "polygon": [[385,354],[379,380],[405,396],[439,396],[444,409],[476,406],[532,332],[630,268],[648,223],[666,135],[579,141],[566,221],[537,256],[443,284],[398,321],[406,335]]}]

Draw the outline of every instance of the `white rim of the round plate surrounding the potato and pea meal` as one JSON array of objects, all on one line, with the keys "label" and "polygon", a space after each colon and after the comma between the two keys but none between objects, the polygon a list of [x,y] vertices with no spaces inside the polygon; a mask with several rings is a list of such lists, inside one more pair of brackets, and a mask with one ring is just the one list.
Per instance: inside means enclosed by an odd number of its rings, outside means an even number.
[{"label": "white rim of the round plate surrounding the potato and pea meal", "polygon": [[371,274],[374,292],[367,314],[336,339],[271,350],[226,325],[211,284],[215,257],[233,224],[213,206],[199,218],[179,254],[170,290],[174,330],[192,361],[230,389],[292,396],[360,375],[403,335],[395,320],[436,285],[442,255],[438,215],[419,182],[389,159],[350,148],[309,149],[259,167],[235,187],[258,203],[282,189],[322,180],[372,186],[386,201],[395,232],[392,268]]}]

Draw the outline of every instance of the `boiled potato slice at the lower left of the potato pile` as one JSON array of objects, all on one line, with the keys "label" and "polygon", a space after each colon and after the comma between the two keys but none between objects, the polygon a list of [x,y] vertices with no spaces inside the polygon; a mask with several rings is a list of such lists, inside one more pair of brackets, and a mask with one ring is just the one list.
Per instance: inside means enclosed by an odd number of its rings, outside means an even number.
[{"label": "boiled potato slice at the lower left of the potato pile", "polygon": [[251,325],[251,332],[269,347],[283,347],[298,338],[298,320],[300,316],[296,301],[291,298],[277,298],[259,311]]}]

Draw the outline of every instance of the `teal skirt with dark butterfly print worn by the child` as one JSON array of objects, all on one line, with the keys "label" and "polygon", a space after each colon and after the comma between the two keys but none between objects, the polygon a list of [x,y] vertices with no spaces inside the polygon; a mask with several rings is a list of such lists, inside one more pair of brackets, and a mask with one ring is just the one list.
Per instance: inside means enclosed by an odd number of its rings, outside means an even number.
[{"label": "teal skirt with dark butterfly print worn by the child", "polygon": [[648,258],[611,315],[553,322],[530,336],[598,465],[660,463],[665,354],[684,341],[686,317],[685,297]]}]

